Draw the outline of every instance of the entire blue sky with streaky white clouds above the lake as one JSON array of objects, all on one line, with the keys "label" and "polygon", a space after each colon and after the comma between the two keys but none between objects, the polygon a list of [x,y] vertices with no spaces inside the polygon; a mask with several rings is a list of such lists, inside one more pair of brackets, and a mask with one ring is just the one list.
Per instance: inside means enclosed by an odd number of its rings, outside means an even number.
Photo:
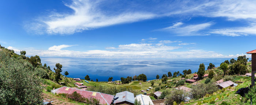
[{"label": "entire blue sky with streaky white clouds above the lake", "polygon": [[251,0],[1,0],[0,44],[40,57],[251,58],[255,10]]}]

